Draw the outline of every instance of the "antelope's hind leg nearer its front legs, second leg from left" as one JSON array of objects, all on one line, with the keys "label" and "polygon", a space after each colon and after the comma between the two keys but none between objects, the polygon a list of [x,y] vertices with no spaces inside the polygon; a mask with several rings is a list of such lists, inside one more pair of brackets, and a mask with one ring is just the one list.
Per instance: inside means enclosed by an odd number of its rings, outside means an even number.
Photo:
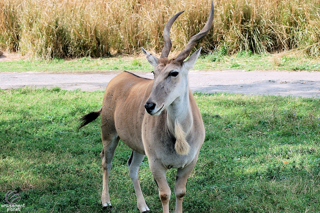
[{"label": "antelope's hind leg nearer its front legs, second leg from left", "polygon": [[146,204],[146,201],[144,200],[141,187],[140,187],[139,176],[138,176],[139,166],[142,160],[144,159],[144,157],[145,155],[132,150],[130,158],[128,160],[129,176],[132,180],[134,191],[136,192],[137,207],[140,210],[140,212],[150,211],[150,209]]}]

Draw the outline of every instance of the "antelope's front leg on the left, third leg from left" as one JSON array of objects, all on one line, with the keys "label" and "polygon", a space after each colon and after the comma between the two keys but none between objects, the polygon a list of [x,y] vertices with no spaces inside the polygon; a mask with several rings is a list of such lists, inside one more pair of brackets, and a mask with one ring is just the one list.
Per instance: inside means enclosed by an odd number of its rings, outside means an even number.
[{"label": "antelope's front leg on the left, third leg from left", "polygon": [[164,213],[169,213],[169,201],[171,196],[171,190],[167,182],[166,171],[167,168],[158,162],[157,160],[150,160],[149,166],[159,188],[159,197],[162,202],[162,208]]}]

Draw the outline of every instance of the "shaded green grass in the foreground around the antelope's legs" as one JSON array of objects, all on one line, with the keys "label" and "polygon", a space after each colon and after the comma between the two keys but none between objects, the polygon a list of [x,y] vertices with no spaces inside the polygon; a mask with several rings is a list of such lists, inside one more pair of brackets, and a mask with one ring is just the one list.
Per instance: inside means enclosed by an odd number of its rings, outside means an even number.
[{"label": "shaded green grass in the foreground around the antelope's legs", "polygon": [[[103,92],[0,91],[0,203],[17,189],[21,212],[101,212],[100,119],[80,131]],[[184,212],[320,212],[320,100],[195,93],[206,138],[188,179]],[[139,212],[121,141],[110,177],[111,212]],[[168,170],[173,189],[176,170]],[[147,158],[142,192],[162,212]],[[172,190],[173,192],[173,190]],[[174,209],[174,194],[170,201]],[[5,211],[5,209],[3,210]],[[103,211],[102,211],[103,212]]]}]

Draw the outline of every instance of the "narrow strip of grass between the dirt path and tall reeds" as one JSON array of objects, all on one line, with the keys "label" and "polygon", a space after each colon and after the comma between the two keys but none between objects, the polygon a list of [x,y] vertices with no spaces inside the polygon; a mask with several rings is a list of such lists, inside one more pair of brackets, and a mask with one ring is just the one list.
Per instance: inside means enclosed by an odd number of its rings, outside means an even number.
[{"label": "narrow strip of grass between the dirt path and tall reeds", "polygon": [[[202,55],[197,60],[195,70],[288,70],[288,71],[319,71],[319,58],[281,56],[276,54],[252,54],[239,52],[228,56],[214,52]],[[0,72],[25,71],[118,71],[150,72],[153,67],[145,58],[79,58],[75,60],[19,60],[3,61],[0,63]]]}]

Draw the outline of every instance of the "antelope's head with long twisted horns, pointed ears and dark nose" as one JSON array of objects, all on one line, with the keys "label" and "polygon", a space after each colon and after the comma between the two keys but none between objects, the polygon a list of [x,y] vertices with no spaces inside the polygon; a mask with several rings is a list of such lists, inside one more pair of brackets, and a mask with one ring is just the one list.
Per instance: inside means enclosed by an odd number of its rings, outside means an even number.
[{"label": "antelope's head with long twisted horns, pointed ears and dark nose", "polygon": [[188,72],[196,63],[200,55],[201,47],[193,53],[187,61],[184,61],[190,54],[196,42],[207,35],[213,21],[213,2],[211,1],[211,11],[209,19],[204,28],[195,36],[191,37],[185,49],[176,58],[168,59],[172,47],[170,39],[170,29],[173,22],[184,11],[175,14],[166,24],[163,31],[164,47],[160,58],[148,53],[143,47],[142,51],[147,55],[147,60],[154,66],[154,84],[151,94],[145,104],[146,111],[157,116],[169,106],[176,98],[188,91]]}]

